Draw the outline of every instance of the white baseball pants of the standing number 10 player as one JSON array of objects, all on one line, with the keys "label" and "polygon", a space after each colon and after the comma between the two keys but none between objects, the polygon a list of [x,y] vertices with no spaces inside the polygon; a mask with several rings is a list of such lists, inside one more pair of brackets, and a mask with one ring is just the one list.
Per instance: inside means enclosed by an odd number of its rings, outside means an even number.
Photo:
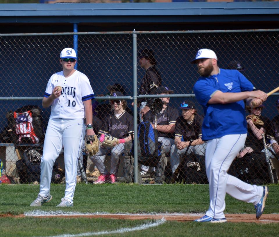
[{"label": "white baseball pants of the standing number 10 player", "polygon": [[85,136],[83,119],[49,119],[41,159],[40,195],[50,193],[52,168],[64,147],[66,188],[64,198],[73,202],[77,161]]}]

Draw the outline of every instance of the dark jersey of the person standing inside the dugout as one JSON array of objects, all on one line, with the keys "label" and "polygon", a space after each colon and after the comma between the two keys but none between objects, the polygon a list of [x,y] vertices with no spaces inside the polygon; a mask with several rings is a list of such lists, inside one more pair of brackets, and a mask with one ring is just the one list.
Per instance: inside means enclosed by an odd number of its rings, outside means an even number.
[{"label": "dark jersey of the person standing inside the dugout", "polygon": [[[152,95],[155,93],[156,88],[161,86],[161,84],[162,84],[161,75],[158,72],[158,70],[156,69],[156,67],[154,65],[152,65],[151,67],[149,67],[146,70],[146,73],[140,83],[139,94],[140,95],[145,95],[145,94]],[[142,102],[142,101],[146,101],[146,99],[144,99],[144,98],[138,99],[138,102]]]}]

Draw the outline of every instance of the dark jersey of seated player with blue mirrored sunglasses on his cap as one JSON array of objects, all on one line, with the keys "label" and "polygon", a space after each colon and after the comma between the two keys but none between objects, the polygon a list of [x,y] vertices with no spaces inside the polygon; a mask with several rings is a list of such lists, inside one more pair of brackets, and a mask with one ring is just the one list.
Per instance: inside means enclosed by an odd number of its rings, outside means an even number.
[{"label": "dark jersey of seated player with blue mirrored sunglasses on his cap", "polygon": [[192,122],[189,124],[183,118],[183,115],[177,118],[175,123],[175,136],[181,138],[182,141],[196,140],[201,137],[201,127],[203,124],[203,116],[195,115]]}]

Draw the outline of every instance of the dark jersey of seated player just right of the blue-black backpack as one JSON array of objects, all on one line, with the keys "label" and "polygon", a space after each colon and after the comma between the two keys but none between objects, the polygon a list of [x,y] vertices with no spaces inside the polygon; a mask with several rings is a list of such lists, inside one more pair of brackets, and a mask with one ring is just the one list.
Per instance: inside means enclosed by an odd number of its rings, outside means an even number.
[{"label": "dark jersey of seated player just right of the blue-black backpack", "polygon": [[[157,114],[157,125],[175,124],[178,116],[179,113],[176,108],[167,106],[167,108]],[[149,110],[144,115],[144,121],[152,122],[152,124],[155,124],[155,115],[152,113],[151,110]],[[158,131],[158,137],[174,138],[174,134]]]}]

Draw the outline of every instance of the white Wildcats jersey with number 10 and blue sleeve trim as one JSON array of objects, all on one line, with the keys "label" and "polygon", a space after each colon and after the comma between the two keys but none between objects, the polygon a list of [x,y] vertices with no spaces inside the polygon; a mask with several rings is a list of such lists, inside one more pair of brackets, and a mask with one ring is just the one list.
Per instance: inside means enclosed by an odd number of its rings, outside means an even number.
[{"label": "white Wildcats jersey with number 10 and blue sleeve trim", "polygon": [[85,117],[83,101],[94,99],[94,92],[87,76],[75,71],[65,78],[63,71],[57,72],[49,79],[44,97],[49,97],[53,88],[58,85],[62,87],[62,91],[60,97],[51,105],[50,118],[83,119]]}]

